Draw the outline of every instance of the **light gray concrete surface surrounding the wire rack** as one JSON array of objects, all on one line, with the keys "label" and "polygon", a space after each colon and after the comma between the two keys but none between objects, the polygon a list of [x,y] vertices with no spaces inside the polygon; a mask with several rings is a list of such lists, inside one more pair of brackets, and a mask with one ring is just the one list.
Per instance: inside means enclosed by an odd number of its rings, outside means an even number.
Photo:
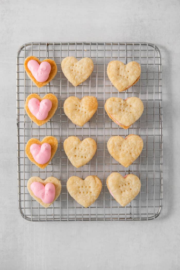
[{"label": "light gray concrete surface surrounding the wire rack", "polygon": [[[0,268],[180,269],[180,1],[0,0]],[[19,215],[16,52],[29,41],[145,41],[162,53],[164,206],[148,222],[28,222]]]}]

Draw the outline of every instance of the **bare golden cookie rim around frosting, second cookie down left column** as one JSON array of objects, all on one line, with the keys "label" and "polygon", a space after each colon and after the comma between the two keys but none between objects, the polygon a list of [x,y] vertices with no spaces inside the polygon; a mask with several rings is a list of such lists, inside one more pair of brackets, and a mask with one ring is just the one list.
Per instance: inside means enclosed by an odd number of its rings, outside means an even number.
[{"label": "bare golden cookie rim around frosting, second cookie down left column", "polygon": [[[38,99],[40,102],[43,100],[43,99],[49,99],[51,102],[52,102],[52,107],[46,117],[46,119],[44,120],[38,120],[29,110],[29,107],[28,107],[28,102],[30,99],[32,98],[36,98]],[[26,102],[25,102],[25,110],[29,116],[29,118],[34,122],[36,123],[38,126],[42,126],[43,124],[45,124],[47,121],[49,121],[51,119],[51,117],[53,117],[53,115],[55,114],[56,110],[57,110],[57,105],[58,105],[58,100],[57,100],[57,97],[53,94],[47,94],[45,95],[43,98],[41,98],[38,94],[30,94],[27,98],[26,98]]]}]

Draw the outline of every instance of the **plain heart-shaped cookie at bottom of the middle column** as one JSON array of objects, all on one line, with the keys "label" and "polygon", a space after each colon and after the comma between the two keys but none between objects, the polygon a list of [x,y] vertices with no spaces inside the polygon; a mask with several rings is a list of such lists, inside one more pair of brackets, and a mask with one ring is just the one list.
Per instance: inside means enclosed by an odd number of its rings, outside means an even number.
[{"label": "plain heart-shaped cookie at bottom of the middle column", "polygon": [[95,175],[87,176],[84,180],[72,176],[67,180],[67,190],[79,204],[88,207],[98,198],[102,189],[100,179]]}]

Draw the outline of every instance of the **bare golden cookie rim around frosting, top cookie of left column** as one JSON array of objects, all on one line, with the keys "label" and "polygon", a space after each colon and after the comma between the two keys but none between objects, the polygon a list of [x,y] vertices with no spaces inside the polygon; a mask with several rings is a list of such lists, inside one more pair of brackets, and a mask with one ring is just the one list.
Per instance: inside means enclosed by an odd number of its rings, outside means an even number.
[{"label": "bare golden cookie rim around frosting, top cookie of left column", "polygon": [[[32,72],[29,70],[28,68],[28,62],[30,60],[35,60],[38,62],[38,64],[40,65],[40,63],[46,61],[51,65],[51,71],[49,73],[49,77],[45,82],[38,82],[35,77],[32,75]],[[56,62],[52,59],[45,59],[43,61],[40,61],[37,57],[35,56],[28,56],[25,61],[24,61],[24,68],[26,70],[26,73],[28,74],[28,77],[35,83],[36,86],[38,86],[39,88],[42,86],[47,85],[55,76],[57,73],[57,66],[56,66]]]}]

